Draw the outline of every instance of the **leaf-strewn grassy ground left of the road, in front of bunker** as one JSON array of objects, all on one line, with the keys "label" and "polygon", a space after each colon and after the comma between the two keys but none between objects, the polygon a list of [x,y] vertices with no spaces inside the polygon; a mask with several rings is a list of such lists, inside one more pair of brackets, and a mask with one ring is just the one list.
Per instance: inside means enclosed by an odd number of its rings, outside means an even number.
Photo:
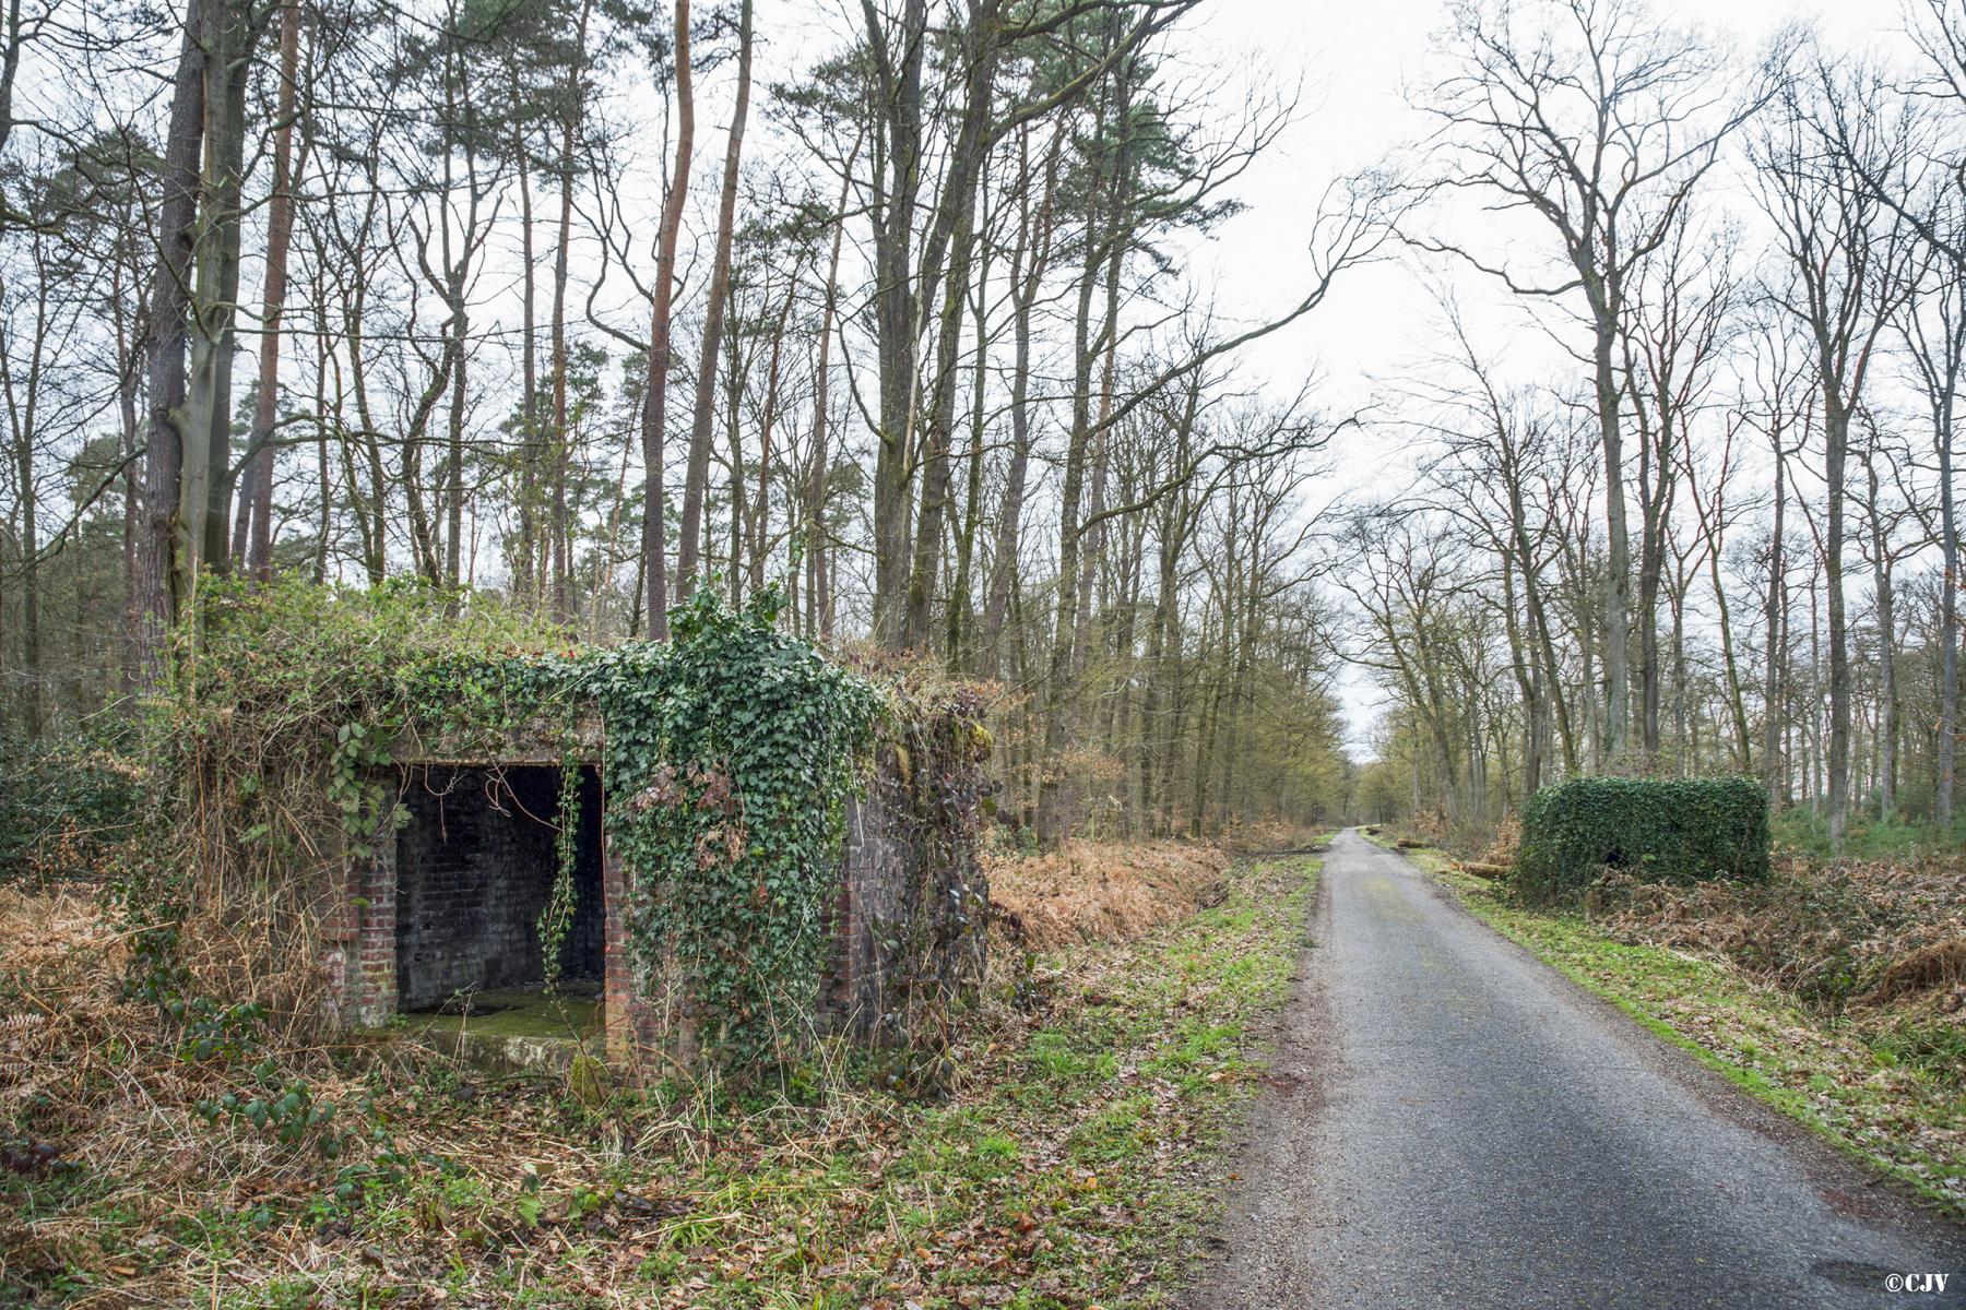
[{"label": "leaf-strewn grassy ground left of the road, in front of bunker", "polygon": [[377,1143],[336,1163],[206,1123],[177,1074],[114,1131],[108,1092],[65,1135],[43,1108],[53,1159],[0,1169],[0,1306],[1166,1304],[1315,874],[1237,864],[1211,909],[1040,956],[999,982],[936,1104],[839,1068],[733,1104],[403,1057],[332,1088]]}]

